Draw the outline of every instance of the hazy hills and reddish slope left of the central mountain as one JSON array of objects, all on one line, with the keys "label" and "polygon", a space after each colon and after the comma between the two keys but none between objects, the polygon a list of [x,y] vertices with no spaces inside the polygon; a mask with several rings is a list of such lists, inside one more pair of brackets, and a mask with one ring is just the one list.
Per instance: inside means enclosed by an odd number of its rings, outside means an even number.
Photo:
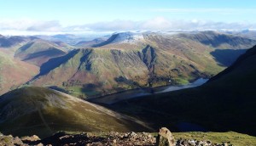
[{"label": "hazy hills and reddish slope left of the central mountain", "polygon": [[71,49],[64,42],[49,42],[35,36],[0,35],[0,95],[31,80],[38,74],[38,67]]}]

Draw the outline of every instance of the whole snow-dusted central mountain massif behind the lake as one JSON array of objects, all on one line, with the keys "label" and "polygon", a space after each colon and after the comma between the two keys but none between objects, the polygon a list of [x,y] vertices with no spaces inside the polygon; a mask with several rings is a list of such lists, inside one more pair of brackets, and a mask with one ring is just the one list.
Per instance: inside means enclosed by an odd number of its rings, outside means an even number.
[{"label": "whole snow-dusted central mountain massif behind the lake", "polygon": [[[195,36],[202,34],[203,41],[195,40]],[[187,84],[218,74],[244,53],[243,48],[256,43],[212,31],[189,35],[194,37],[154,32],[113,34],[96,48],[81,48],[49,59],[30,84],[61,87],[82,98],[137,87]],[[223,37],[225,40],[221,41]],[[235,43],[232,39],[241,41]],[[206,42],[225,45],[212,46]],[[228,57],[226,51],[218,51],[228,48]]]}]

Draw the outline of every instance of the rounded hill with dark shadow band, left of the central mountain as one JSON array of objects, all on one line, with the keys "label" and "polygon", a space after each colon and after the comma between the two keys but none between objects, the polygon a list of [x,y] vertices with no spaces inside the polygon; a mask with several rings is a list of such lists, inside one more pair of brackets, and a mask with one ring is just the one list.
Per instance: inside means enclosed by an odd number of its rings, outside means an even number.
[{"label": "rounded hill with dark shadow band, left of the central mountain", "polygon": [[37,39],[20,47],[15,52],[15,58],[40,66],[51,58],[65,55],[67,49],[68,46],[63,43]]}]

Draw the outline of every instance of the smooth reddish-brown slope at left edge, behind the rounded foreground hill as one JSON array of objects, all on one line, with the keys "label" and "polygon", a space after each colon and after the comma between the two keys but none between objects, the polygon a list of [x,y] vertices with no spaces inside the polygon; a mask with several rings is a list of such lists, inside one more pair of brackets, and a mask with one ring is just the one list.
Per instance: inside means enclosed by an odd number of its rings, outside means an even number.
[{"label": "smooth reddish-brown slope at left edge, behind the rounded foreground hill", "polygon": [[37,66],[14,59],[0,50],[0,95],[29,81],[38,71]]}]

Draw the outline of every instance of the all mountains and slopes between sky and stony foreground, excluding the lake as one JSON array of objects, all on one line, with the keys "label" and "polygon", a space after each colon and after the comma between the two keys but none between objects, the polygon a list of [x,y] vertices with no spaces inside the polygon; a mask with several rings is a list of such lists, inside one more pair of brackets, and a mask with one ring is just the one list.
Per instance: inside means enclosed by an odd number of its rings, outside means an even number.
[{"label": "all mountains and slopes between sky and stony foreground, excluding the lake", "polygon": [[[0,44],[4,134],[152,132],[166,126],[172,132],[256,135],[253,38],[214,31],[122,32],[81,42],[86,48],[34,36],[1,36]],[[210,80],[201,87],[102,104],[105,108],[84,100],[198,78]]]}]

